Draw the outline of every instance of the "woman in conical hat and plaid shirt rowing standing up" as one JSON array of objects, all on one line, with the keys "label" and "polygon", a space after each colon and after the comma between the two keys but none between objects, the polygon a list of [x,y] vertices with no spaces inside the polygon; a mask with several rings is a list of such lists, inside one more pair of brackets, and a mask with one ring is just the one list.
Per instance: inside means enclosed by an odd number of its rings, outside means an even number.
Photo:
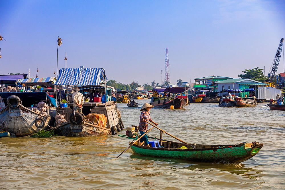
[{"label": "woman in conical hat and plaid shirt rowing standing up", "polygon": [[[140,124],[139,124],[139,132],[141,133],[141,135],[143,135],[146,131],[147,131],[147,124],[145,121],[150,121],[152,122],[154,125],[158,125],[157,123],[155,123],[154,121],[152,121],[151,117],[150,117],[150,112],[149,110],[151,108],[153,108],[154,106],[148,104],[148,103],[144,103],[141,111],[141,117],[140,117]],[[147,140],[147,134],[145,134],[141,139],[140,142],[142,143],[144,141],[145,146],[149,146],[148,144],[148,140]]]}]

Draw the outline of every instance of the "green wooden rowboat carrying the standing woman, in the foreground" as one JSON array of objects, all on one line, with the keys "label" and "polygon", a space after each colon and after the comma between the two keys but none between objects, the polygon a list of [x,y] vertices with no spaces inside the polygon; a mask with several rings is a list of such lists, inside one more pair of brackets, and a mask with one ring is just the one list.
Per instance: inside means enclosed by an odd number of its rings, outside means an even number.
[{"label": "green wooden rowboat carrying the standing woman, in the foreground", "polygon": [[[123,135],[120,135],[123,136]],[[148,137],[156,139],[153,137]],[[156,139],[162,140],[162,139]],[[131,145],[132,143],[130,143]],[[144,144],[142,144],[144,145]],[[184,146],[184,148],[181,148]],[[210,144],[183,144],[173,141],[161,141],[163,148],[153,148],[133,144],[131,149],[136,154],[161,158],[179,158],[194,162],[213,162],[213,163],[236,163],[243,162],[255,156],[262,148],[263,144],[238,143],[234,145],[210,145]]]}]

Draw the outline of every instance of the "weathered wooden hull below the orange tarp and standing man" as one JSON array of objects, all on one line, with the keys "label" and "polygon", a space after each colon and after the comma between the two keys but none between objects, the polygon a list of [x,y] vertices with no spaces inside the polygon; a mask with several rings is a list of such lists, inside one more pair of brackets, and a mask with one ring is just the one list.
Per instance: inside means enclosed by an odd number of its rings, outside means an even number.
[{"label": "weathered wooden hull below the orange tarp and standing man", "polygon": [[68,121],[55,129],[55,133],[65,137],[92,137],[98,135],[109,135],[111,133],[111,129],[99,127],[86,122],[73,124]]}]

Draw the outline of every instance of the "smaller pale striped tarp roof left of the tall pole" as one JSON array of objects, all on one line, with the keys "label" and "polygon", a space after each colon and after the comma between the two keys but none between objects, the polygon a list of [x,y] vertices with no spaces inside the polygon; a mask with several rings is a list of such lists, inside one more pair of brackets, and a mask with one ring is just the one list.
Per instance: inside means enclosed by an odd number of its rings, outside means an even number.
[{"label": "smaller pale striped tarp roof left of the tall pole", "polygon": [[17,85],[21,86],[37,86],[37,85],[49,85],[56,82],[55,77],[46,78],[31,78],[31,79],[18,79]]}]

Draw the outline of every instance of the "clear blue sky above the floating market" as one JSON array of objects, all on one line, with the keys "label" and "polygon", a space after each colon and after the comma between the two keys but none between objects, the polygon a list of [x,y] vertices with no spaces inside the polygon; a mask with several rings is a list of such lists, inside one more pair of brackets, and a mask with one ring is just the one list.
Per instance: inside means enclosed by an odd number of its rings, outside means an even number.
[{"label": "clear blue sky above the floating market", "polygon": [[[267,74],[285,37],[283,0],[13,1],[0,11],[1,74],[53,77],[58,67],[102,67],[125,84],[161,83],[168,48],[170,81]],[[283,53],[278,73],[284,71]]]}]

